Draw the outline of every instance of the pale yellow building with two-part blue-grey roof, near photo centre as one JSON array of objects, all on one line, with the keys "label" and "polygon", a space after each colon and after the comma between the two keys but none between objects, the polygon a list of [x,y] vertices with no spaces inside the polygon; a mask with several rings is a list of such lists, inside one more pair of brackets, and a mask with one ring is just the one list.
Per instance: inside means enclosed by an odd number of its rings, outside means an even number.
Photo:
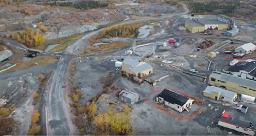
[{"label": "pale yellow building with two-part blue-grey roof, near photo centre", "polygon": [[153,67],[146,62],[138,61],[132,58],[127,58],[122,63],[122,75],[128,77],[138,76],[142,78],[153,73]]}]

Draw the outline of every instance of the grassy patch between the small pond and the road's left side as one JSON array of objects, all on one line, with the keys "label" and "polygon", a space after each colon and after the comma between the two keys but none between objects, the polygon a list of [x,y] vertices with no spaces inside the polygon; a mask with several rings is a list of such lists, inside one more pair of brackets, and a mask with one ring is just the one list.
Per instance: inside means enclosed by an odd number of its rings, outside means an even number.
[{"label": "grassy patch between the small pond and the road's left side", "polygon": [[51,44],[60,44],[56,46],[55,48],[49,50],[48,52],[54,53],[54,52],[62,52],[65,51],[68,46],[72,45],[75,41],[78,39],[82,38],[85,34],[84,33],[79,33],[79,34],[74,34],[73,36],[69,36],[61,41],[55,41],[51,42]]}]

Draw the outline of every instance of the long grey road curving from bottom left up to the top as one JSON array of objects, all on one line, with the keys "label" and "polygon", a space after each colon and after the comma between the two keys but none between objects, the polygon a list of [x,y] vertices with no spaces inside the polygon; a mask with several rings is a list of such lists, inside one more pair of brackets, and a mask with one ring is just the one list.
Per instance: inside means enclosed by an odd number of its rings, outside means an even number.
[{"label": "long grey road curving from bottom left up to the top", "polygon": [[[183,4],[185,7],[185,12],[182,14],[188,14],[189,10],[187,7]],[[136,22],[143,22],[143,21],[150,21],[150,20],[162,20],[167,17],[173,17],[179,14],[173,14],[168,16],[163,16],[160,18],[155,19],[142,19],[142,20],[135,20],[135,21],[127,21],[123,23],[119,23],[117,25],[113,25],[111,27],[115,27],[118,25],[125,25],[130,23],[136,23]],[[67,109],[68,104],[65,99],[66,89],[62,88],[63,85],[65,85],[65,73],[67,70],[68,62],[71,60],[71,55],[74,54],[75,49],[77,49],[79,46],[82,45],[85,39],[89,39],[90,37],[94,36],[95,34],[100,33],[102,29],[98,29],[94,32],[91,32],[89,34],[86,34],[83,38],[80,38],[69,46],[66,51],[64,51],[64,55],[61,58],[61,60],[58,62],[58,66],[54,72],[54,74],[51,76],[51,84],[49,89],[49,96],[48,100],[46,100],[47,105],[47,114],[48,117],[46,119],[46,122],[48,123],[48,135],[74,135],[78,134],[76,132],[75,126],[72,123],[72,120],[69,116],[69,111]]]}]

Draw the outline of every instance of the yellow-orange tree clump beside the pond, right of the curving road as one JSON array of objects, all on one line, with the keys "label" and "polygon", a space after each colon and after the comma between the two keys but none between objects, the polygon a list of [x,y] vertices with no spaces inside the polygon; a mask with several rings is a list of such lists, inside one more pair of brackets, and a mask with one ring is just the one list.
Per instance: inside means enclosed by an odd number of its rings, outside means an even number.
[{"label": "yellow-orange tree clump beside the pond, right of the curving road", "polygon": [[138,28],[132,25],[121,25],[112,28],[103,29],[98,38],[108,38],[108,37],[137,37],[139,34]]}]

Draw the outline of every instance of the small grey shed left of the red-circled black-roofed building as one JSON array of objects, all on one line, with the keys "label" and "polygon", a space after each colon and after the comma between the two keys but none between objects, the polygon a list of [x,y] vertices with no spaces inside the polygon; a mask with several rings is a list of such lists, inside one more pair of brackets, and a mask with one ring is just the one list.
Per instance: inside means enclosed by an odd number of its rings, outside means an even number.
[{"label": "small grey shed left of the red-circled black-roofed building", "polygon": [[129,104],[134,104],[138,102],[139,95],[138,93],[135,93],[135,92],[123,90],[119,93],[119,100]]}]

